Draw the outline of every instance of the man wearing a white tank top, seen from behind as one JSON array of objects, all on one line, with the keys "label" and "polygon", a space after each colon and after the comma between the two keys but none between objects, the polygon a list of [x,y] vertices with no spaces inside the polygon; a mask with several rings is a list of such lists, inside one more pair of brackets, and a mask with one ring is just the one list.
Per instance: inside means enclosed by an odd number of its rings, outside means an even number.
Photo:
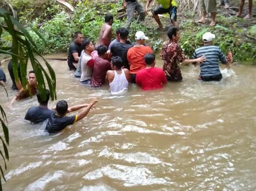
[{"label": "man wearing a white tank top, seen from behind", "polygon": [[123,66],[121,57],[112,57],[112,70],[107,71],[107,79],[112,94],[119,94],[128,89],[130,72],[127,68],[123,69]]}]

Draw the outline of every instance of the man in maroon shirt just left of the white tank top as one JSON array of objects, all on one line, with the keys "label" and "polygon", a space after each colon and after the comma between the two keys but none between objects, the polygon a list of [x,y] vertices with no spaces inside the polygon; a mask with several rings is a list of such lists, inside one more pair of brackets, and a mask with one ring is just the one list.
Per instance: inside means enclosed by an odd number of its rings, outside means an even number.
[{"label": "man in maroon shirt just left of the white tank top", "polygon": [[99,56],[94,59],[93,74],[90,82],[92,87],[104,85],[107,71],[111,70],[110,62],[107,60],[107,46],[100,45],[97,51]]}]

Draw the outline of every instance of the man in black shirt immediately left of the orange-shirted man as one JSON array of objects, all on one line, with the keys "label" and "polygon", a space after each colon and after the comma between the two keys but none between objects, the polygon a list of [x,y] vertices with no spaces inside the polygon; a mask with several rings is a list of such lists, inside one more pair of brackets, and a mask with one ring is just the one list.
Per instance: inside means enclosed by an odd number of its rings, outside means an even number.
[{"label": "man in black shirt immediately left of the orange-shirted man", "polygon": [[113,57],[121,57],[123,60],[124,67],[129,69],[129,63],[127,60],[128,49],[132,47],[131,44],[127,44],[129,31],[127,28],[121,28],[120,30],[120,42],[117,42],[111,46],[110,52]]}]

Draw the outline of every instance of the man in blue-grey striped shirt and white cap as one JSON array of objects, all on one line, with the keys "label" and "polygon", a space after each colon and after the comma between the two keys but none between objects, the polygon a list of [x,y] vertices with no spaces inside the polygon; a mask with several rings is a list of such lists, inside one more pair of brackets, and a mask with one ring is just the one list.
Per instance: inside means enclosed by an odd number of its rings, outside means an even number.
[{"label": "man in blue-grey striped shirt and white cap", "polygon": [[193,58],[198,58],[205,56],[206,61],[200,64],[200,76],[199,79],[203,81],[220,81],[222,74],[220,73],[220,67],[218,61],[220,60],[222,64],[226,64],[229,68],[232,63],[232,57],[228,60],[220,50],[220,47],[213,46],[213,39],[215,35],[206,32],[203,34],[203,47],[196,49],[193,53]]}]

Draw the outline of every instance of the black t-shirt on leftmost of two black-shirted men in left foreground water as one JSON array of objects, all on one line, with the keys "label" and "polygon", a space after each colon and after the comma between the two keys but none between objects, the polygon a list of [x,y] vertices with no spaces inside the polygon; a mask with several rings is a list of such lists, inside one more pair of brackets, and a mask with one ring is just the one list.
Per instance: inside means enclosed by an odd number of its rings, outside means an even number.
[{"label": "black t-shirt on leftmost of two black-shirted men in left foreground water", "polygon": [[49,110],[48,108],[44,107],[31,107],[28,109],[25,120],[30,120],[32,123],[41,123],[44,120],[48,119],[51,114],[55,113],[53,110]]}]

